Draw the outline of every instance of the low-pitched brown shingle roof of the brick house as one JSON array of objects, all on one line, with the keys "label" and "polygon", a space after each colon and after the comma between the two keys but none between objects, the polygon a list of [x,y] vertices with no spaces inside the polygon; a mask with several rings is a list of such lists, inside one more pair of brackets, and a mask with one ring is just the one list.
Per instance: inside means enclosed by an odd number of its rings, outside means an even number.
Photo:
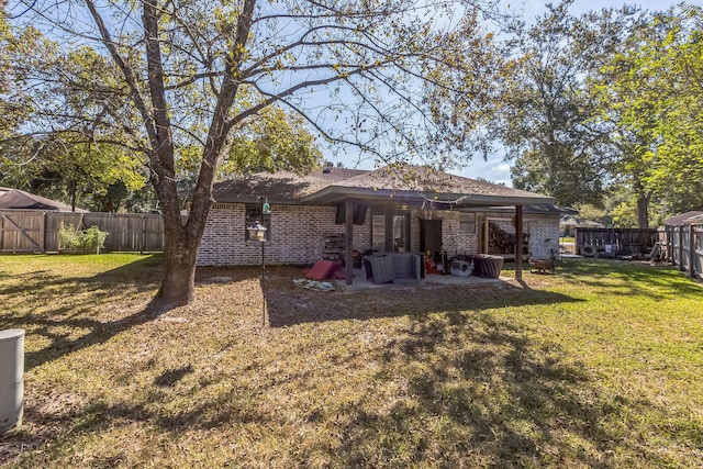
[{"label": "low-pitched brown shingle roof of the brick house", "polygon": [[259,172],[219,182],[216,202],[253,202],[267,197],[277,203],[330,205],[347,198],[398,202],[451,203],[460,206],[550,204],[554,199],[534,192],[434,171],[421,166],[376,170],[327,168],[306,175]]}]

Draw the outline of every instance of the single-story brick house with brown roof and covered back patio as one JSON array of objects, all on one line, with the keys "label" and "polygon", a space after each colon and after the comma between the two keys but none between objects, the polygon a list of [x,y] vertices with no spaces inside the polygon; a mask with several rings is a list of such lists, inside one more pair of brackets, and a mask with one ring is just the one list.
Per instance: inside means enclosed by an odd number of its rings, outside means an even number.
[{"label": "single-story brick house with brown roof and covered back patio", "polygon": [[[527,233],[535,257],[548,258],[559,248],[560,212],[545,209],[554,203],[550,197],[419,166],[260,172],[216,183],[213,200],[199,266],[259,264],[260,244],[248,239],[246,230],[256,222],[268,228],[267,264],[354,259],[370,249],[449,257],[487,253],[499,225]],[[270,215],[263,214],[264,202]],[[515,250],[491,254],[515,258]],[[522,256],[515,259],[521,278]],[[353,263],[346,264],[350,282]]]}]

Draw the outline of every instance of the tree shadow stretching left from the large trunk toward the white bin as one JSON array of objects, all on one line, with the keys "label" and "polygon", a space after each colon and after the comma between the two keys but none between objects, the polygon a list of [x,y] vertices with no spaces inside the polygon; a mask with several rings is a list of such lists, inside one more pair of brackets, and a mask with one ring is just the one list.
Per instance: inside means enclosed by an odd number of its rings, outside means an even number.
[{"label": "tree shadow stretching left from the large trunk toward the white bin", "polygon": [[[32,336],[46,343],[41,349],[25,353],[26,371],[76,350],[103,343],[123,331],[158,317],[157,312],[148,305],[136,305],[136,312],[130,310],[134,311],[134,297],[156,291],[163,273],[163,264],[161,255],[153,255],[90,277],[71,277],[70,272],[54,275],[48,270],[14,276],[12,284],[0,288],[0,295],[3,297],[5,305],[5,311],[0,316],[0,328],[23,328],[27,338]],[[18,278],[21,282],[16,281]],[[31,295],[27,295],[27,292],[31,292]],[[85,304],[76,302],[74,297],[78,295],[85,295],[80,300]],[[35,313],[33,306],[20,304],[29,301],[41,306],[42,311]],[[107,301],[125,302],[132,308],[127,308],[124,313],[115,312],[113,308],[110,311],[113,317],[110,321],[101,321],[96,314],[96,308]],[[46,309],[47,304],[54,308]],[[82,333],[75,336],[67,331]]]}]

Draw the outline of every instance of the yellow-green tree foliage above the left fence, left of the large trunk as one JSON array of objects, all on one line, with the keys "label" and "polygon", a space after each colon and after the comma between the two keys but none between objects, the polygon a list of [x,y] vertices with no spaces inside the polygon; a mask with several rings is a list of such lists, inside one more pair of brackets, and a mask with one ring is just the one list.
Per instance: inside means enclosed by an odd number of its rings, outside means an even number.
[{"label": "yellow-green tree foliage above the left fence, left of the large trunk", "polygon": [[[142,188],[142,158],[123,145],[127,136],[122,129],[99,118],[107,92],[86,92],[109,77],[105,62],[86,47],[63,55],[58,44],[34,27],[15,32],[3,41],[2,56],[12,64],[13,78],[3,102],[21,103],[14,107],[22,113],[14,114],[14,124],[0,138],[0,181],[98,210],[110,205],[100,199],[111,187]],[[41,132],[42,125],[51,132]]]}]

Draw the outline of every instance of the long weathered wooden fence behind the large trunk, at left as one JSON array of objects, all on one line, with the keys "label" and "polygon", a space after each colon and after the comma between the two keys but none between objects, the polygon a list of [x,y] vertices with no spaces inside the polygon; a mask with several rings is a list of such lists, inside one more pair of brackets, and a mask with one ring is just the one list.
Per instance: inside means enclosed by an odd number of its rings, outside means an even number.
[{"label": "long weathered wooden fence behind the large trunk, at left", "polygon": [[62,223],[78,228],[94,225],[108,232],[105,250],[164,250],[160,214],[0,210],[0,253],[57,252]]}]

